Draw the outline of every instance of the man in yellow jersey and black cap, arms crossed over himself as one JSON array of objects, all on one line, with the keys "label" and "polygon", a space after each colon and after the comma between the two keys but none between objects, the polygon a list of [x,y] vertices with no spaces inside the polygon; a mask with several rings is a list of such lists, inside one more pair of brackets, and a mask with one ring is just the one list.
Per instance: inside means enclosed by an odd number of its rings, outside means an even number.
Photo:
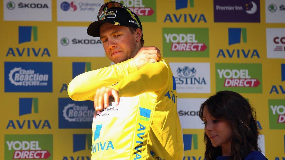
[{"label": "man in yellow jersey and black cap, arms crossed over himself", "polygon": [[68,86],[71,99],[94,100],[91,159],[182,159],[176,85],[168,62],[157,48],[142,47],[142,24],[123,4],[105,3],[97,18],[87,33],[100,37],[115,64],[78,75]]}]

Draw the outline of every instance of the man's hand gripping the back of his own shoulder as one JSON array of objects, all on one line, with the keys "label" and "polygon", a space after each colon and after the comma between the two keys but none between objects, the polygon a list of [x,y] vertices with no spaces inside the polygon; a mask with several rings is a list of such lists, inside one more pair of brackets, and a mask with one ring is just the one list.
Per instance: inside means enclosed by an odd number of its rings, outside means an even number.
[{"label": "man's hand gripping the back of his own shoulder", "polygon": [[139,70],[149,63],[159,61],[160,57],[160,50],[154,46],[150,46],[140,48],[135,57],[133,57],[133,60],[135,61],[135,65]]}]

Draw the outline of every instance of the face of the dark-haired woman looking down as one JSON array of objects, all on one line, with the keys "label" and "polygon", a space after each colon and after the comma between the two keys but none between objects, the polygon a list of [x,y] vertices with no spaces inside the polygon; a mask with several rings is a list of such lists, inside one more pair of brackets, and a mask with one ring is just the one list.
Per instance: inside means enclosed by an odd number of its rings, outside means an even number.
[{"label": "face of the dark-haired woman looking down", "polygon": [[216,119],[207,110],[203,110],[203,121],[205,123],[205,133],[210,138],[212,145],[230,145],[232,140],[232,126],[224,119]]}]

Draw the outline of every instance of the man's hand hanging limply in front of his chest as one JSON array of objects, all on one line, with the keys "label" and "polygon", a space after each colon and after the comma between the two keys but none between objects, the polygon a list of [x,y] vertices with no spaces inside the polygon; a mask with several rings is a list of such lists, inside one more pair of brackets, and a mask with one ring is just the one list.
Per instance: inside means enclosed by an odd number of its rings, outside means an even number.
[{"label": "man's hand hanging limply in front of his chest", "polygon": [[110,101],[116,102],[116,105],[119,104],[119,92],[113,88],[102,87],[97,89],[97,92],[94,96],[94,108],[96,111],[100,111],[103,108],[109,106]]}]

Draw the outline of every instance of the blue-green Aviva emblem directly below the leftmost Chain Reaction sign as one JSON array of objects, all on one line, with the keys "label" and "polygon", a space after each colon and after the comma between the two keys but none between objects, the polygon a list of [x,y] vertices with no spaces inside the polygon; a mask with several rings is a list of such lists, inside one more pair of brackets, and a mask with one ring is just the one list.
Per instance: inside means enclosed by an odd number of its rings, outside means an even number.
[{"label": "blue-green Aviva emblem directly below the leftmost Chain Reaction sign", "polygon": [[19,98],[19,116],[31,114],[32,108],[34,108],[34,113],[39,113],[38,98]]}]

